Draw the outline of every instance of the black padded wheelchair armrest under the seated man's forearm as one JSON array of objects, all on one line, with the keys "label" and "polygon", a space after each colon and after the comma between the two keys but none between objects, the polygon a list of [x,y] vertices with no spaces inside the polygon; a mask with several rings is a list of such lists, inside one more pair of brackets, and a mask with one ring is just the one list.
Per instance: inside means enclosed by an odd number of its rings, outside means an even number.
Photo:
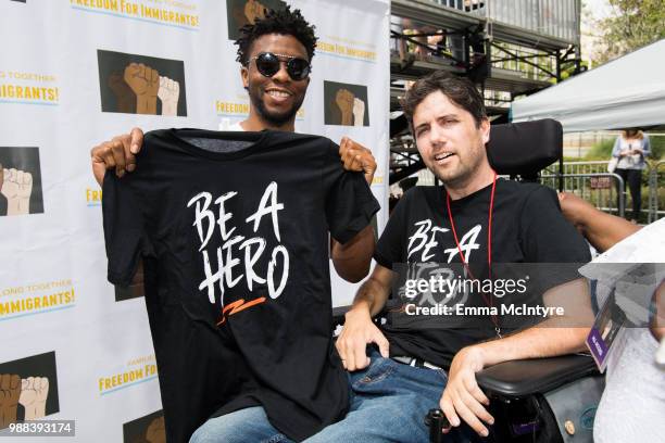
[{"label": "black padded wheelchair armrest under the seated man's forearm", "polygon": [[524,397],[593,375],[599,375],[593,358],[576,354],[505,362],[481,370],[476,378],[490,395]]}]

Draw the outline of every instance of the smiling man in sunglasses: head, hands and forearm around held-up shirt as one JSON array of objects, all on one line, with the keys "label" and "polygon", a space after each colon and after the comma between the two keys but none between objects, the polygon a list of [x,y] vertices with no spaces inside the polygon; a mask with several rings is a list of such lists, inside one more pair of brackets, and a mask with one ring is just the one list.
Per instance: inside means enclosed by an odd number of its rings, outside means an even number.
[{"label": "smiling man in sunglasses: head, hands and forearm around held-up shirt", "polygon": [[[275,129],[296,131],[296,113],[302,105],[310,85],[311,60],[314,56],[316,37],[313,27],[302,18],[300,12],[290,12],[290,22],[275,20],[258,21],[241,29],[238,58],[242,85],[250,98],[247,119],[229,127],[229,130],[260,131]],[[297,16],[301,21],[297,20]],[[136,169],[136,155],[143,144],[143,131],[131,129],[130,134],[113,137],[91,150],[92,174],[101,186],[106,169],[115,169],[118,177]],[[372,151],[343,137],[339,155],[347,170],[363,172],[372,185],[376,161]],[[374,251],[374,235],[371,227],[363,229],[343,245],[331,241],[331,258],[337,273],[344,280],[357,282],[369,271]]]}]

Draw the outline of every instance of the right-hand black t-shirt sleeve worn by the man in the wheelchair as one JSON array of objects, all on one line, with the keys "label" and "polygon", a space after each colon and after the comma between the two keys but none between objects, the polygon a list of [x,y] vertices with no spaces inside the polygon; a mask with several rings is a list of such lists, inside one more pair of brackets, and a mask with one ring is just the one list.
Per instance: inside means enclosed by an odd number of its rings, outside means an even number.
[{"label": "right-hand black t-shirt sleeve worn by the man in the wheelchair", "polygon": [[578,268],[591,260],[589,245],[568,223],[554,190],[538,187],[526,199],[520,216],[525,262],[539,265],[542,289],[577,279]]}]

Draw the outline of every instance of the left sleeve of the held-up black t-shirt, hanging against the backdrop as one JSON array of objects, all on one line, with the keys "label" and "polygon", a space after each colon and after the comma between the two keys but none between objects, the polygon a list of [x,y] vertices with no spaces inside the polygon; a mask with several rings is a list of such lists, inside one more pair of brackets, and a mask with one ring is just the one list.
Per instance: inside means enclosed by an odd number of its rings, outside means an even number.
[{"label": "left sleeve of the held-up black t-shirt, hanging against the backdrop", "polygon": [[106,172],[102,187],[104,241],[109,260],[108,279],[128,286],[147,250],[143,212],[133,186],[135,177],[117,178]]}]

